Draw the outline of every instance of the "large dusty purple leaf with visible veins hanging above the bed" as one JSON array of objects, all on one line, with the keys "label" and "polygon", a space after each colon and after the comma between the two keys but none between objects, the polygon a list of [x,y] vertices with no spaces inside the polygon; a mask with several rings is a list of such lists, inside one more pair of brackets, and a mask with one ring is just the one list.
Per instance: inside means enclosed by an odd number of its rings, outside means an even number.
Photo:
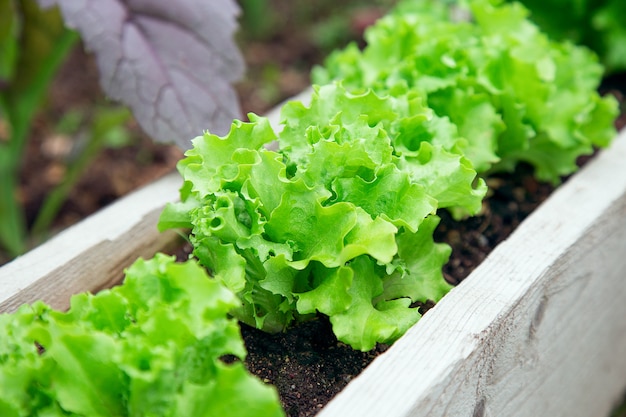
[{"label": "large dusty purple leaf with visible veins hanging above the bed", "polygon": [[183,149],[240,117],[232,87],[244,64],[234,0],[39,0],[95,53],[104,91],[130,106],[155,140]]}]

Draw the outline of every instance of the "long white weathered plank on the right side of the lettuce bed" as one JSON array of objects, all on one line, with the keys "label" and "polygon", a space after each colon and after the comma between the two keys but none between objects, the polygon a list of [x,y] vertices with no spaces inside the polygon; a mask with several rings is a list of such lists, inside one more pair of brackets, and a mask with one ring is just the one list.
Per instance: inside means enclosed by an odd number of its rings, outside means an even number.
[{"label": "long white weathered plank on the right side of the lettuce bed", "polygon": [[318,417],[608,416],[626,389],[626,132]]}]

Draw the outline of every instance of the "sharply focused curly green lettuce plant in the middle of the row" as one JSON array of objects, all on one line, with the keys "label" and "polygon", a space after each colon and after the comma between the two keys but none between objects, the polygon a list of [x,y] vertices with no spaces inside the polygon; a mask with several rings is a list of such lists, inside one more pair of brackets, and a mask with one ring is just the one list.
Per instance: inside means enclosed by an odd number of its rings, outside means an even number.
[{"label": "sharply focused curly green lettuce plant in the middle of the row", "polygon": [[[395,116],[409,105],[411,118]],[[181,201],[160,228],[191,229],[195,256],[240,296],[233,314],[246,323],[274,332],[320,312],[356,349],[392,342],[419,319],[413,303],[449,289],[436,210],[476,213],[486,191],[463,156],[426,139],[447,133],[435,118],[419,102],[340,84],[318,88],[309,107],[287,104],[278,134],[251,114],[227,136],[194,139],[179,163]],[[408,124],[424,125],[403,132],[422,140],[419,155],[384,128]],[[274,141],[280,150],[265,147]]]}]

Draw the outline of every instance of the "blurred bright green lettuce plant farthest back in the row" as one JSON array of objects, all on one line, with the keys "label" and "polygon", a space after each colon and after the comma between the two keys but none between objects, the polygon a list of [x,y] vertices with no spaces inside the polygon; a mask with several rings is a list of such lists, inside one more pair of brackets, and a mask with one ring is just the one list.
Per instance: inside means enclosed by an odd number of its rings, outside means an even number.
[{"label": "blurred bright green lettuce plant farthest back in the row", "polygon": [[596,92],[602,66],[589,50],[548,39],[517,3],[468,3],[404,1],[367,31],[363,51],[331,54],[313,78],[418,94],[457,126],[479,172],[526,162],[538,179],[557,183],[578,156],[615,135],[616,101]]}]

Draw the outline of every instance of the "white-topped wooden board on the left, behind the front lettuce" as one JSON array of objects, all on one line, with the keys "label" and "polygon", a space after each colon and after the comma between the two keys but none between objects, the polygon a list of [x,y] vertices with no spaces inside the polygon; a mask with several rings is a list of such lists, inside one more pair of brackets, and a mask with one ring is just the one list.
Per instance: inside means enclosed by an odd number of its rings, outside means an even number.
[{"label": "white-topped wooden board on the left, behind the front lettuce", "polygon": [[65,309],[72,294],[112,286],[137,257],[172,244],[178,235],[159,233],[156,224],[181,184],[178,173],[166,175],[4,265],[0,312],[36,300]]}]

